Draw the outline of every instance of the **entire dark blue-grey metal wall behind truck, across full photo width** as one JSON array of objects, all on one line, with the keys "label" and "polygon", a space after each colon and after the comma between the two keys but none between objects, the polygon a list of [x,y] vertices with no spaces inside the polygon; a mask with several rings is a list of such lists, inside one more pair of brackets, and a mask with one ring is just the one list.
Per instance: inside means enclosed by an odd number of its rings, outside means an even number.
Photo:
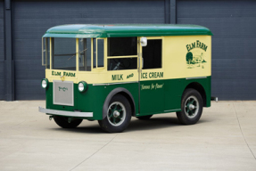
[{"label": "entire dark blue-grey metal wall behind truck, across full photo width", "polygon": [[[214,34],[212,95],[220,100],[255,100],[256,1],[177,0],[175,6],[174,0],[13,0],[15,100],[45,98],[40,85],[45,77],[41,37],[47,28],[74,23],[165,23],[173,19],[169,11],[175,9],[178,24],[202,25]],[[0,0],[0,100],[4,100],[4,81],[4,1]]]}]

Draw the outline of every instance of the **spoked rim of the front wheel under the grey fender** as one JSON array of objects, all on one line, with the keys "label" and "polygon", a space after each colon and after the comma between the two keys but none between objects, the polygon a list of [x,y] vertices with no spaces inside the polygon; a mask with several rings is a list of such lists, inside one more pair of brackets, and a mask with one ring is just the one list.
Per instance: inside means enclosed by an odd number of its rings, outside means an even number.
[{"label": "spoked rim of the front wheel under the grey fender", "polygon": [[120,126],[126,118],[126,108],[121,102],[112,102],[107,118],[112,126]]}]

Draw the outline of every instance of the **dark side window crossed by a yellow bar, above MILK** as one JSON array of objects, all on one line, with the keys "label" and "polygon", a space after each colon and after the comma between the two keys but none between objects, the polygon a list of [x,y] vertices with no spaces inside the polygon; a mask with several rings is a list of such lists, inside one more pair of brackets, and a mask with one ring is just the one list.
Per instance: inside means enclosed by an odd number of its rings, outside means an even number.
[{"label": "dark side window crossed by a yellow bar, above MILK", "polygon": [[137,37],[108,38],[108,70],[137,69]]}]

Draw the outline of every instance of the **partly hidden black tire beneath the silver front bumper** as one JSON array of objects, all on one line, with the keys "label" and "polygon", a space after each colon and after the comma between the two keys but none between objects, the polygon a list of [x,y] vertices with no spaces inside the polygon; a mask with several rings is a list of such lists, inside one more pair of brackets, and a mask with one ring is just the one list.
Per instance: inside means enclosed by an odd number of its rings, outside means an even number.
[{"label": "partly hidden black tire beneath the silver front bumper", "polygon": [[58,126],[61,126],[62,128],[75,128],[79,126],[83,121],[83,119],[77,118],[71,120],[71,122],[69,123],[68,119],[68,117],[54,116],[54,121]]}]

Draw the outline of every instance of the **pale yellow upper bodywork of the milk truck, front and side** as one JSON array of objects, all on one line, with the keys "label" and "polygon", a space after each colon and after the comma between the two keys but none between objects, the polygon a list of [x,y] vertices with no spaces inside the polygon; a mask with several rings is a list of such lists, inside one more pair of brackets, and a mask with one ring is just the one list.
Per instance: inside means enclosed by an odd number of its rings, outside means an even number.
[{"label": "pale yellow upper bodywork of the milk truck, front and side", "polygon": [[[142,77],[141,73],[138,73],[138,69],[107,70],[106,38],[104,41],[105,52],[103,68],[92,69],[92,71],[45,69],[45,76],[50,82],[53,82],[53,80],[69,80],[73,81],[74,83],[78,83],[79,81],[86,81],[88,84],[134,82],[138,81],[138,78],[140,80],[152,80],[179,77],[211,76],[211,36],[176,36],[152,38],[162,38],[163,67],[162,69],[143,69],[142,73],[147,72],[147,77]],[[52,41],[50,41],[50,43],[52,43]],[[50,49],[50,51],[52,51],[52,49]],[[140,67],[142,66],[141,51],[142,47],[139,46],[138,64]],[[188,59],[190,59],[189,62],[186,59],[187,55]],[[93,51],[91,64],[93,66]]]}]

